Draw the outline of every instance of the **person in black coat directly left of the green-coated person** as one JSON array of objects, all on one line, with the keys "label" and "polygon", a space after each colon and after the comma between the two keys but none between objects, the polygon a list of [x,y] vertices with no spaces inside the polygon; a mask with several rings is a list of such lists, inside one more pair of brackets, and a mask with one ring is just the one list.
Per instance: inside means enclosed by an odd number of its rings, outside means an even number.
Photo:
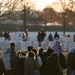
[{"label": "person in black coat directly left of the green-coated person", "polygon": [[19,57],[16,63],[15,75],[24,75],[25,59],[26,59],[26,53],[22,52],[21,56]]}]

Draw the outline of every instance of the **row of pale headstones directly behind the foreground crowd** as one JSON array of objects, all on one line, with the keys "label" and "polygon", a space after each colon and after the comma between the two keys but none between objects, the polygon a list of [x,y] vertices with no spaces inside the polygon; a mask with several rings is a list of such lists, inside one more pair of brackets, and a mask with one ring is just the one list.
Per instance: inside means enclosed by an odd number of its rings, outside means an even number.
[{"label": "row of pale headstones directly behind the foreground crowd", "polygon": [[[39,47],[38,41],[27,41],[27,42],[24,42],[24,41],[4,41],[4,42],[0,42],[0,49],[10,48],[11,42],[15,43],[16,52],[20,49],[27,50],[28,46],[33,46],[33,48],[36,50],[38,50],[38,47]],[[64,51],[64,49],[70,50],[71,48],[75,47],[75,42],[68,42],[68,41],[61,42],[60,41],[60,43],[61,43],[62,51]],[[51,48],[53,48],[54,44],[55,44],[55,41],[50,41],[50,42],[43,41],[43,42],[41,42],[41,47],[46,50],[47,46],[51,46]]]}]

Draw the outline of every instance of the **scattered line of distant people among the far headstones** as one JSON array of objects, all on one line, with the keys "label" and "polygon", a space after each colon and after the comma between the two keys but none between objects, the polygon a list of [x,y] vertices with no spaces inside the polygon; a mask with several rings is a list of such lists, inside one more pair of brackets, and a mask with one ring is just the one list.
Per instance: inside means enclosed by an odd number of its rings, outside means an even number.
[{"label": "scattered line of distant people among the far headstones", "polygon": [[[14,35],[15,38],[20,38],[20,40],[22,41],[28,41],[29,40],[29,31],[28,29],[26,29],[25,32],[21,32],[21,31],[18,31],[16,32],[16,34]],[[66,35],[67,37],[70,37],[70,34],[67,34]],[[4,37],[5,41],[6,40],[11,40],[11,33],[10,32],[0,32],[0,37]],[[40,43],[42,41],[44,41],[45,37],[47,37],[47,34],[44,30],[41,30],[41,31],[38,31],[37,33],[37,41],[39,42],[39,46],[40,46]],[[53,41],[54,39],[60,39],[60,35],[58,34],[58,32],[55,32],[55,34],[53,35],[51,32],[49,33],[48,37],[47,37],[47,40],[48,41]],[[75,35],[74,35],[74,41],[75,41]]]}]

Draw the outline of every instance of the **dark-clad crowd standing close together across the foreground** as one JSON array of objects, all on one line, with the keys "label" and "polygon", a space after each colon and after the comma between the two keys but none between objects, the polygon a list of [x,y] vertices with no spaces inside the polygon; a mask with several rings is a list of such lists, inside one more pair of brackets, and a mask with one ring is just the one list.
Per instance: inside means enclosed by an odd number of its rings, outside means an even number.
[{"label": "dark-clad crowd standing close together across the foreground", "polygon": [[75,48],[66,57],[59,41],[53,48],[48,46],[47,50],[36,50],[32,46],[27,49],[15,52],[15,43],[11,43],[5,52],[10,57],[10,69],[6,69],[0,57],[0,75],[63,75],[63,70],[67,70],[67,75],[75,75]]}]

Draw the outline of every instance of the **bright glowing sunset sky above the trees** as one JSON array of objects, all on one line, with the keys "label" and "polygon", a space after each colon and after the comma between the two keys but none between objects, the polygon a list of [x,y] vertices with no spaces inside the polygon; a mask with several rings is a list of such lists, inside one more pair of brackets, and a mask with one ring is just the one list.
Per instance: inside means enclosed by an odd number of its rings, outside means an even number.
[{"label": "bright glowing sunset sky above the trees", "polygon": [[[0,2],[1,1],[11,1],[11,0],[0,0]],[[12,0],[12,1],[14,1],[14,0]],[[49,5],[51,5],[51,7],[58,12],[60,12],[60,10],[62,10],[60,0],[31,0],[31,1],[35,2],[36,10],[42,11],[46,6],[49,6]],[[68,2],[69,0],[61,0],[61,1]],[[52,5],[53,2],[57,2],[58,4],[55,3],[54,5]]]}]

